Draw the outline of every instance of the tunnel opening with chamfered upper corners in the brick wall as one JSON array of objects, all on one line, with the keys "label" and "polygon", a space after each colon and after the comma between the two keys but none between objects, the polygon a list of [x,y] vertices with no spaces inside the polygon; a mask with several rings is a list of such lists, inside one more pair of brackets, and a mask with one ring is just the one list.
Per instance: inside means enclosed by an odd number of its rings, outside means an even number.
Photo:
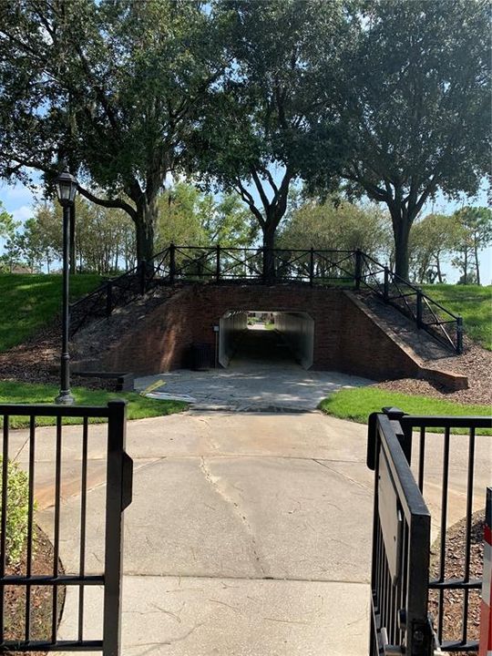
[{"label": "tunnel opening with chamfered upper corners in the brick wall", "polygon": [[314,321],[308,313],[230,310],[220,318],[223,367],[313,364]]}]

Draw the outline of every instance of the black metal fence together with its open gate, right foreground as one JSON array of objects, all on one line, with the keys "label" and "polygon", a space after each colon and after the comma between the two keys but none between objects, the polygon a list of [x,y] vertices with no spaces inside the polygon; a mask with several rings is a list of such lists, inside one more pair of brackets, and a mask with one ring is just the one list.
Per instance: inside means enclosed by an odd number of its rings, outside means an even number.
[{"label": "black metal fence together with its open gate, right foreground", "polygon": [[[489,447],[491,428],[490,417],[412,416],[395,408],[371,415],[367,450],[367,464],[375,473],[371,656],[431,656],[436,648],[477,651],[477,637],[471,635],[477,627],[469,616],[472,596],[477,598],[482,587],[471,569],[473,511],[485,503],[485,487],[477,492],[476,486],[477,440]],[[452,460],[452,446],[458,462]],[[429,447],[431,463],[426,458]],[[490,453],[489,448],[485,451]],[[482,465],[489,471],[489,463]],[[448,562],[449,490],[456,485],[454,477],[459,477],[465,499],[463,549],[452,554],[458,576],[449,573]],[[432,554],[426,503],[431,496],[433,525],[439,528]],[[446,620],[451,608],[453,617],[459,609],[457,624]]]}]

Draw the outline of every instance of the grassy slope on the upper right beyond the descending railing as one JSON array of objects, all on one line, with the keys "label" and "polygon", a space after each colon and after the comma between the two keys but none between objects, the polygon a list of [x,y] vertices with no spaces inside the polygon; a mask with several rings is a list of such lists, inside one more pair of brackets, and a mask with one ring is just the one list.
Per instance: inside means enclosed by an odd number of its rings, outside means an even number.
[{"label": "grassy slope on the upper right beyond the descending railing", "polygon": [[465,334],[492,351],[492,286],[433,284],[422,289],[452,313],[460,314]]}]

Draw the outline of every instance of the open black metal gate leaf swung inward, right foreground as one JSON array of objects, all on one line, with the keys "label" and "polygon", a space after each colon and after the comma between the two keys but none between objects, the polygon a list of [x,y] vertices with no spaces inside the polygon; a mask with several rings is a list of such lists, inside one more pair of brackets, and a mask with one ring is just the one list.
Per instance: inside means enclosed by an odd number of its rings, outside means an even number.
[{"label": "open black metal gate leaf swung inward, right foreground", "polygon": [[[430,656],[427,620],[430,513],[392,414],[372,415],[367,464],[374,469],[370,656]],[[401,651],[401,653],[404,653]]]}]

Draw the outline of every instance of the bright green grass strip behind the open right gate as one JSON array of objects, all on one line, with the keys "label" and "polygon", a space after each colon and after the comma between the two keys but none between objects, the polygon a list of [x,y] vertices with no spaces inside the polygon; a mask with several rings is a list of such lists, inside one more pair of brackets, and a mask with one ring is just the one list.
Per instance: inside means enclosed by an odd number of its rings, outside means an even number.
[{"label": "bright green grass strip behind the open right gate", "polygon": [[351,419],[359,424],[367,424],[367,417],[380,412],[382,407],[394,406],[409,415],[486,415],[492,414],[488,405],[465,405],[430,396],[405,395],[390,392],[378,387],[354,387],[323,399],[319,405],[327,415],[340,419]]}]

